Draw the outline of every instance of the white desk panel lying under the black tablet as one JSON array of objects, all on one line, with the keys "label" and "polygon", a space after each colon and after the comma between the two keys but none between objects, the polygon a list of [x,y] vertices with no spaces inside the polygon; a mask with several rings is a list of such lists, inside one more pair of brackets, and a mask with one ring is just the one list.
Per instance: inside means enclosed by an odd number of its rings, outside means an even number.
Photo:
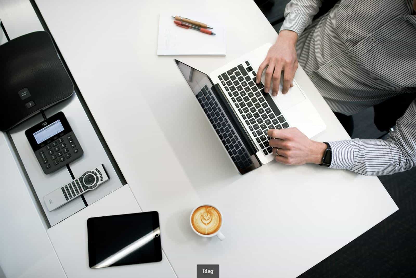
[{"label": "white desk panel lying under the black tablet", "polygon": [[[90,217],[141,212],[129,185],[122,186],[105,198],[53,226],[47,233],[68,278],[175,278],[168,260],[162,253],[162,261],[129,266],[91,269],[88,265],[87,219]],[[162,248],[165,242],[161,225]]]}]

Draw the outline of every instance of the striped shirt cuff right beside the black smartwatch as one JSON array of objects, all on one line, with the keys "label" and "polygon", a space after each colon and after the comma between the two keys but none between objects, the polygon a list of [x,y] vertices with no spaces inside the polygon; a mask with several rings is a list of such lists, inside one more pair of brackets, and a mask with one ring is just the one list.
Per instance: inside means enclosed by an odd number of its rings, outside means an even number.
[{"label": "striped shirt cuff right beside the black smartwatch", "polygon": [[351,140],[327,142],[331,146],[332,159],[328,168],[350,169],[354,164],[354,149]]}]

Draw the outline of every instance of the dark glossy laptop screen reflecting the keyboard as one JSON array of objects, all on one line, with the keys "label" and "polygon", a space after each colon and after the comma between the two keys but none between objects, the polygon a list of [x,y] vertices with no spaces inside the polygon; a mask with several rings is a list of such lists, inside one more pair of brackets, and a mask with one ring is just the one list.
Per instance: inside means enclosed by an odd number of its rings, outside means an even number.
[{"label": "dark glossy laptop screen reflecting the keyboard", "polygon": [[240,174],[260,167],[260,161],[238,128],[237,118],[208,75],[175,61]]}]

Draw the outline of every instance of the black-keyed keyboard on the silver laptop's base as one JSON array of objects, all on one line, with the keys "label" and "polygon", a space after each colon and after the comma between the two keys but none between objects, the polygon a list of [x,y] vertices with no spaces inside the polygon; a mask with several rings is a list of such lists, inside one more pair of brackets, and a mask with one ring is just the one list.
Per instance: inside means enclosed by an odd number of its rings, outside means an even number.
[{"label": "black-keyed keyboard on the silver laptop's base", "polygon": [[[269,146],[270,137],[267,136],[269,129],[282,129],[290,127],[285,117],[275,106],[268,93],[264,92],[262,82],[255,83],[256,72],[248,61],[245,65],[238,65],[231,70],[218,75],[225,91],[230,96],[238,113],[241,115],[253,138],[257,141],[264,155],[272,152]],[[272,107],[266,101],[270,98]]]}]

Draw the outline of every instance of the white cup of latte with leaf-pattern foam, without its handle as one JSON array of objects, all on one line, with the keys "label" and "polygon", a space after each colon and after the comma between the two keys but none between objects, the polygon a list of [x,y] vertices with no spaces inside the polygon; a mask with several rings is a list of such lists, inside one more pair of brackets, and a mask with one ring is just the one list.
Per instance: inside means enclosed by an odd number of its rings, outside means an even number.
[{"label": "white cup of latte with leaf-pattern foam, without its handle", "polygon": [[191,216],[195,231],[203,235],[216,233],[221,227],[221,214],[212,206],[200,206]]}]

